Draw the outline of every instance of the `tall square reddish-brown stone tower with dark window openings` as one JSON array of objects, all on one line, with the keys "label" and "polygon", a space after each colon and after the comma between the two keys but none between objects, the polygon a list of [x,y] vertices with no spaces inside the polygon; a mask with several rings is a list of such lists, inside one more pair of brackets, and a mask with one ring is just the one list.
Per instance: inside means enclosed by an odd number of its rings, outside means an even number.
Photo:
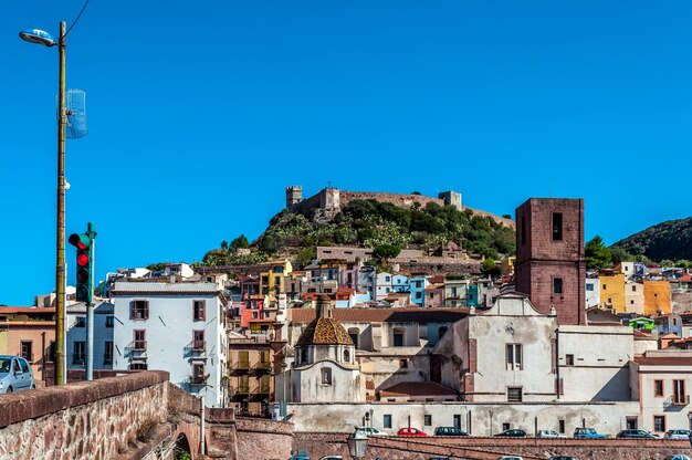
[{"label": "tall square reddish-brown stone tower with dark window openings", "polygon": [[558,324],[586,324],[584,200],[531,198],[516,208],[516,291]]}]

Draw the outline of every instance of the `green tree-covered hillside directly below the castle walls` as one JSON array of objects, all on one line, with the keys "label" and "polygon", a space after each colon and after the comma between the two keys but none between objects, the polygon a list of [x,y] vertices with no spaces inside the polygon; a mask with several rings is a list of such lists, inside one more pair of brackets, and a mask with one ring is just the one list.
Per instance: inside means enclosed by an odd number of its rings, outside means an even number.
[{"label": "green tree-covered hillside directly below the castle walls", "polygon": [[470,254],[494,260],[515,251],[514,228],[505,224],[514,222],[483,211],[461,210],[432,200],[403,205],[355,197],[337,209],[327,208],[327,212],[305,205],[274,216],[264,233],[250,244],[250,254],[231,250],[233,242],[223,242],[205,255],[202,264],[256,263],[273,257],[290,257],[305,264],[315,257],[318,245],[394,245],[430,251],[454,241]]}]

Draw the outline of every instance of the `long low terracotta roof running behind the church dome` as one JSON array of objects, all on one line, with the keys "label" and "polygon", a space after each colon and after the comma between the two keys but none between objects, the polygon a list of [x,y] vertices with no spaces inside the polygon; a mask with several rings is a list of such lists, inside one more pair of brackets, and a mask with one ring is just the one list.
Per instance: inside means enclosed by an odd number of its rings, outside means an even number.
[{"label": "long low terracotta roof running behind the church dome", "polygon": [[[334,320],[340,323],[454,323],[469,315],[469,309],[335,309]],[[294,323],[308,323],[317,316],[313,309],[291,309]]]}]

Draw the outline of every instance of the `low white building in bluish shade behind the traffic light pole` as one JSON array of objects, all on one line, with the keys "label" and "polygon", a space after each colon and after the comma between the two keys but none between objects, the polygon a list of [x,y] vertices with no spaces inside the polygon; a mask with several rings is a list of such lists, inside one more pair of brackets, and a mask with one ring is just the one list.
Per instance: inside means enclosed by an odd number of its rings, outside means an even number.
[{"label": "low white building in bluish shade behind the traffic light pole", "polygon": [[[86,367],[86,305],[67,305],[65,315],[65,352],[69,369]],[[113,304],[102,302],[94,306],[94,369],[112,369],[114,344]]]}]

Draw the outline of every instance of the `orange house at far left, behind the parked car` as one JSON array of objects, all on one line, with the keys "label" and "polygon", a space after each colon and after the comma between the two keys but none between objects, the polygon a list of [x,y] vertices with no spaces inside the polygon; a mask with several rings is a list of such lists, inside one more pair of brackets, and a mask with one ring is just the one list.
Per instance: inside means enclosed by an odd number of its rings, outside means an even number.
[{"label": "orange house at far left, behind the parked car", "polygon": [[22,356],[36,385],[52,378],[55,356],[55,309],[0,306],[0,354]]}]

